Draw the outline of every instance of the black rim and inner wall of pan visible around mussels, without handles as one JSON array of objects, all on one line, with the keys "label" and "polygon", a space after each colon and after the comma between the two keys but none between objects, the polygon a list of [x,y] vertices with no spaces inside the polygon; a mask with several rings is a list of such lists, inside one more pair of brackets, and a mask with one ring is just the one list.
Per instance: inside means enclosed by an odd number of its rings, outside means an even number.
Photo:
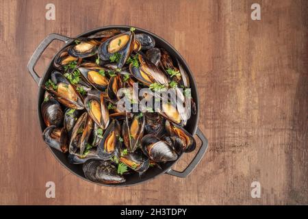
[{"label": "black rim and inner wall of pan visible around mussels, without handles", "polygon": [[[93,29],[91,31],[88,31],[84,34],[81,34],[77,37],[86,37],[86,36],[90,36],[94,33],[97,33],[98,31],[103,31],[105,29],[114,29],[114,28],[118,28],[118,29],[124,29],[124,30],[129,30],[129,26],[108,26],[108,27],[100,27],[97,29]],[[156,42],[156,46],[158,48],[163,48],[166,49],[166,51],[168,51],[168,53],[170,53],[170,56],[172,58],[177,58],[179,60],[179,62],[181,62],[183,68],[186,70],[186,72],[188,73],[189,77],[190,77],[190,88],[192,91],[192,97],[194,98],[194,101],[196,102],[196,110],[197,110],[197,114],[196,115],[192,115],[190,117],[190,120],[188,120],[188,124],[185,126],[185,129],[191,133],[192,135],[194,135],[196,133],[196,128],[198,125],[198,114],[199,114],[199,105],[198,105],[198,93],[196,90],[196,83],[194,81],[194,78],[192,77],[192,72],[190,71],[190,68],[188,67],[188,65],[186,64],[185,60],[183,60],[183,57],[181,57],[181,55],[170,45],[168,44],[168,42],[166,42],[165,40],[163,40],[162,38],[160,38],[159,36],[156,36],[155,34],[152,34],[149,31],[146,31],[144,29],[139,29],[136,28],[135,30],[136,34],[140,34],[140,33],[144,33],[144,34],[149,34],[151,36],[153,36],[153,38],[155,39]],[[70,42],[68,42],[67,44],[64,45],[64,47],[67,47],[69,44],[73,44],[74,40],[70,40]],[[63,48],[64,48],[63,47]],[[62,48],[62,49],[63,49]],[[60,49],[60,50],[62,50]],[[55,56],[53,57],[54,60]],[[38,94],[38,117],[40,120],[40,127],[41,130],[44,131],[44,129],[46,128],[46,125],[44,125],[44,120],[42,119],[42,114],[40,113],[40,103],[42,103],[43,99],[44,99],[44,89],[42,89],[42,85],[47,81],[47,79],[49,79],[51,72],[54,70],[53,68],[53,60],[51,60],[49,66],[47,67],[46,72],[44,73],[44,75],[42,76],[42,79],[40,80],[40,86],[39,86],[39,94]],[[85,179],[88,181],[88,179],[86,179],[86,177],[84,177],[84,172],[82,171],[82,165],[79,164],[70,164],[68,162],[67,159],[67,155],[57,151],[51,147],[49,147],[49,149],[51,149],[53,155],[55,155],[55,157],[57,158],[57,160],[64,166],[66,167],[68,170],[70,170],[71,172],[73,172],[75,175],[77,175],[78,177],[81,177],[82,179]],[[179,157],[180,159],[180,157]],[[177,161],[175,161],[177,162]],[[146,172],[144,172],[144,174],[140,177],[139,174],[136,172],[133,175],[129,175],[126,178],[126,182],[125,183],[120,183],[120,184],[116,184],[116,185],[107,185],[107,186],[128,186],[128,185],[136,185],[138,183],[142,183],[144,181],[147,181],[149,179],[154,179],[155,177],[157,177],[158,175],[163,174],[164,172],[166,172],[167,170],[169,170],[174,164],[175,162],[168,162],[166,164],[162,164],[161,167],[162,169],[159,168],[150,168],[149,170],[147,170]],[[92,182],[93,183],[93,182]],[[105,184],[101,184],[101,185],[105,185]]]}]

